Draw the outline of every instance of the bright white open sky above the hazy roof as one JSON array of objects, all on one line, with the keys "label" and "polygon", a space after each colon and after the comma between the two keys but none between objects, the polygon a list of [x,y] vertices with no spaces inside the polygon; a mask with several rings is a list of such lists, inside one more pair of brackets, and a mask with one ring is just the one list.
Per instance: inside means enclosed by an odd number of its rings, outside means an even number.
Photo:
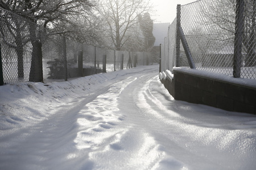
[{"label": "bright white open sky above the hazy roof", "polygon": [[172,23],[176,17],[177,4],[186,5],[196,0],[151,0],[155,16],[151,16],[155,23]]}]

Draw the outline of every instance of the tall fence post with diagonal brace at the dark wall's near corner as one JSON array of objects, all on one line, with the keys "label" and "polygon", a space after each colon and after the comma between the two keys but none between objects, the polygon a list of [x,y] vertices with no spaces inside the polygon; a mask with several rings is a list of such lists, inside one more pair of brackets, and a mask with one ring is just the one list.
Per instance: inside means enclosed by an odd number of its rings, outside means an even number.
[{"label": "tall fence post with diagonal brace at the dark wall's near corner", "polygon": [[179,67],[180,60],[180,35],[179,35],[179,27],[180,25],[180,14],[181,14],[181,6],[177,5],[177,25],[176,25],[176,67]]}]

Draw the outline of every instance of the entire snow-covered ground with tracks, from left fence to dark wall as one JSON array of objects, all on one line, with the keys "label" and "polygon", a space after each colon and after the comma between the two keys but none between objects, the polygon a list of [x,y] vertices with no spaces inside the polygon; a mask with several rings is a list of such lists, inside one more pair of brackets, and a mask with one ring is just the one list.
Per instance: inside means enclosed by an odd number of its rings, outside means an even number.
[{"label": "entire snow-covered ground with tracks, from left fence to dark wall", "polygon": [[255,169],[256,117],[176,101],[158,65],[0,87],[0,169]]}]

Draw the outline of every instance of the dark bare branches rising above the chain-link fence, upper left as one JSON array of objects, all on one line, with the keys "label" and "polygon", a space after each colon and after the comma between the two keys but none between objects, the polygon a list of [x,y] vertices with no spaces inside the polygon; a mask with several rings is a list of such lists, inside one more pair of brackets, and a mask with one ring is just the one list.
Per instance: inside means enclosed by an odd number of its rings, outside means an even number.
[{"label": "dark bare branches rising above the chain-link fence, upper left", "polygon": [[89,21],[96,5],[94,0],[0,0],[0,7],[56,33],[77,32],[79,21]]}]

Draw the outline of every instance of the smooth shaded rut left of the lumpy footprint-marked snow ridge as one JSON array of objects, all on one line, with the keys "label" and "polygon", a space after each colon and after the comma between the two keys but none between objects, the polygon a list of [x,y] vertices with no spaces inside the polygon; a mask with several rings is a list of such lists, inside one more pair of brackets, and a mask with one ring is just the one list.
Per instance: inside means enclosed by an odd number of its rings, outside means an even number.
[{"label": "smooth shaded rut left of the lumpy footprint-marked snow ridge", "polygon": [[[79,129],[77,120],[80,115],[77,113],[85,103],[94,100],[108,88],[102,88],[95,94],[80,99],[69,99],[65,105],[52,106],[49,109],[51,116],[46,120],[36,126],[20,129],[18,133],[22,134],[21,137],[9,139],[10,149],[0,158],[0,169],[51,169],[53,164],[59,166],[57,169],[65,169],[65,165],[69,164],[65,162],[69,152],[77,151],[72,140],[76,138],[76,131]],[[12,164],[13,160],[24,164]],[[45,164],[42,166],[40,162]]]}]

